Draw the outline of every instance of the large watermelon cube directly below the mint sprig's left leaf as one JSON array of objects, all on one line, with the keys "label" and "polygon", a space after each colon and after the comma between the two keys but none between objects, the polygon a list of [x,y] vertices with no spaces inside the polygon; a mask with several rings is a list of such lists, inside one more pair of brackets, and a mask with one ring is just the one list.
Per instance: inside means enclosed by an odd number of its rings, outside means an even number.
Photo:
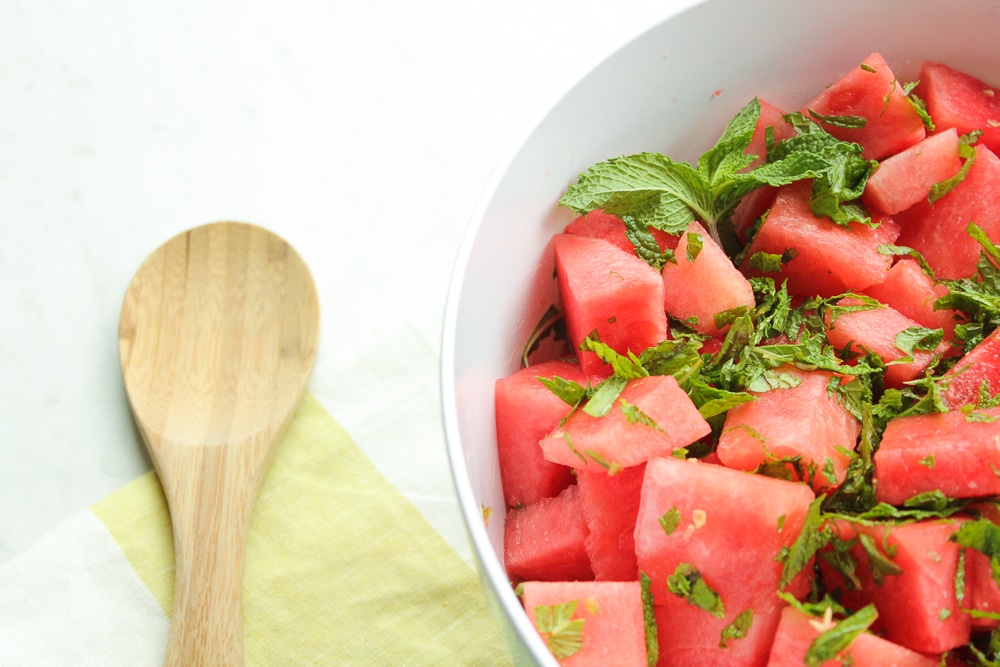
[{"label": "large watermelon cube directly below the mint sprig's left leaf", "polygon": [[[593,331],[621,354],[638,354],[667,338],[663,279],[656,269],[603,239],[557,234],[553,249],[575,348]],[[589,376],[611,373],[593,352],[580,351],[578,358]]]}]

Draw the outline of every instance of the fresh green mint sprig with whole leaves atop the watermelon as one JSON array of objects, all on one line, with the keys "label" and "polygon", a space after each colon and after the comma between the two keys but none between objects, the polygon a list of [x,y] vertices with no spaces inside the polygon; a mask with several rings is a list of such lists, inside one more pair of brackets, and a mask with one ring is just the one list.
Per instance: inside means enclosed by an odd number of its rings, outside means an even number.
[{"label": "fresh green mint sprig with whole leaves atop the watermelon", "polygon": [[578,214],[602,209],[623,219],[637,254],[658,269],[673,258],[660,251],[650,229],[679,235],[700,220],[712,239],[734,255],[738,244],[729,226],[732,213],[745,195],[765,185],[811,178],[816,215],[840,225],[871,224],[865,211],[851,203],[861,195],[875,166],[861,157],[860,146],[834,138],[803,114],[789,114],[786,120],[797,136],[771,147],[767,162],[747,172],[757,157],[746,150],[759,117],[755,98],[740,109],[696,166],[651,152],[595,164],[580,174],[560,204]]}]

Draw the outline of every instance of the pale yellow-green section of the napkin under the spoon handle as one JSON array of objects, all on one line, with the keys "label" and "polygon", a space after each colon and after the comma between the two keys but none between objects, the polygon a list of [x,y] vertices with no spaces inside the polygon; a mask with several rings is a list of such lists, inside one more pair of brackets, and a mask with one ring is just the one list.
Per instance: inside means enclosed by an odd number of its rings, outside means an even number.
[{"label": "pale yellow-green section of the napkin under the spoon handle", "polygon": [[[92,512],[169,614],[173,546],[155,474]],[[310,395],[257,500],[244,586],[247,665],[510,662],[473,571]]]}]

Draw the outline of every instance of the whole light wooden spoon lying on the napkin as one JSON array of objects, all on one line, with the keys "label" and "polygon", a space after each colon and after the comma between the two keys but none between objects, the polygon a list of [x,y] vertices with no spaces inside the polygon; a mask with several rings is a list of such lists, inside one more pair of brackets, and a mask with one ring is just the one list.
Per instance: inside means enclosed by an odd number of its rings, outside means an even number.
[{"label": "whole light wooden spoon lying on the napkin", "polygon": [[243,665],[251,510],[318,335],[309,269],[252,225],[215,223],[174,237],[125,294],[125,389],[173,523],[171,667]]}]

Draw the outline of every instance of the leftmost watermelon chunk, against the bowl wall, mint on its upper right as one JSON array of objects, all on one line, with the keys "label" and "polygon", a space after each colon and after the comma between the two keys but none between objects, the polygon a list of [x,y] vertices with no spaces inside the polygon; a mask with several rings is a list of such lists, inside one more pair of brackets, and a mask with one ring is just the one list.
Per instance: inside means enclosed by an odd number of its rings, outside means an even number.
[{"label": "leftmost watermelon chunk, against the bowl wall, mint on its upper right", "polygon": [[550,498],[573,481],[572,470],[546,461],[538,446],[570,411],[539,377],[587,384],[580,366],[567,361],[543,362],[496,381],[497,458],[507,507]]}]

